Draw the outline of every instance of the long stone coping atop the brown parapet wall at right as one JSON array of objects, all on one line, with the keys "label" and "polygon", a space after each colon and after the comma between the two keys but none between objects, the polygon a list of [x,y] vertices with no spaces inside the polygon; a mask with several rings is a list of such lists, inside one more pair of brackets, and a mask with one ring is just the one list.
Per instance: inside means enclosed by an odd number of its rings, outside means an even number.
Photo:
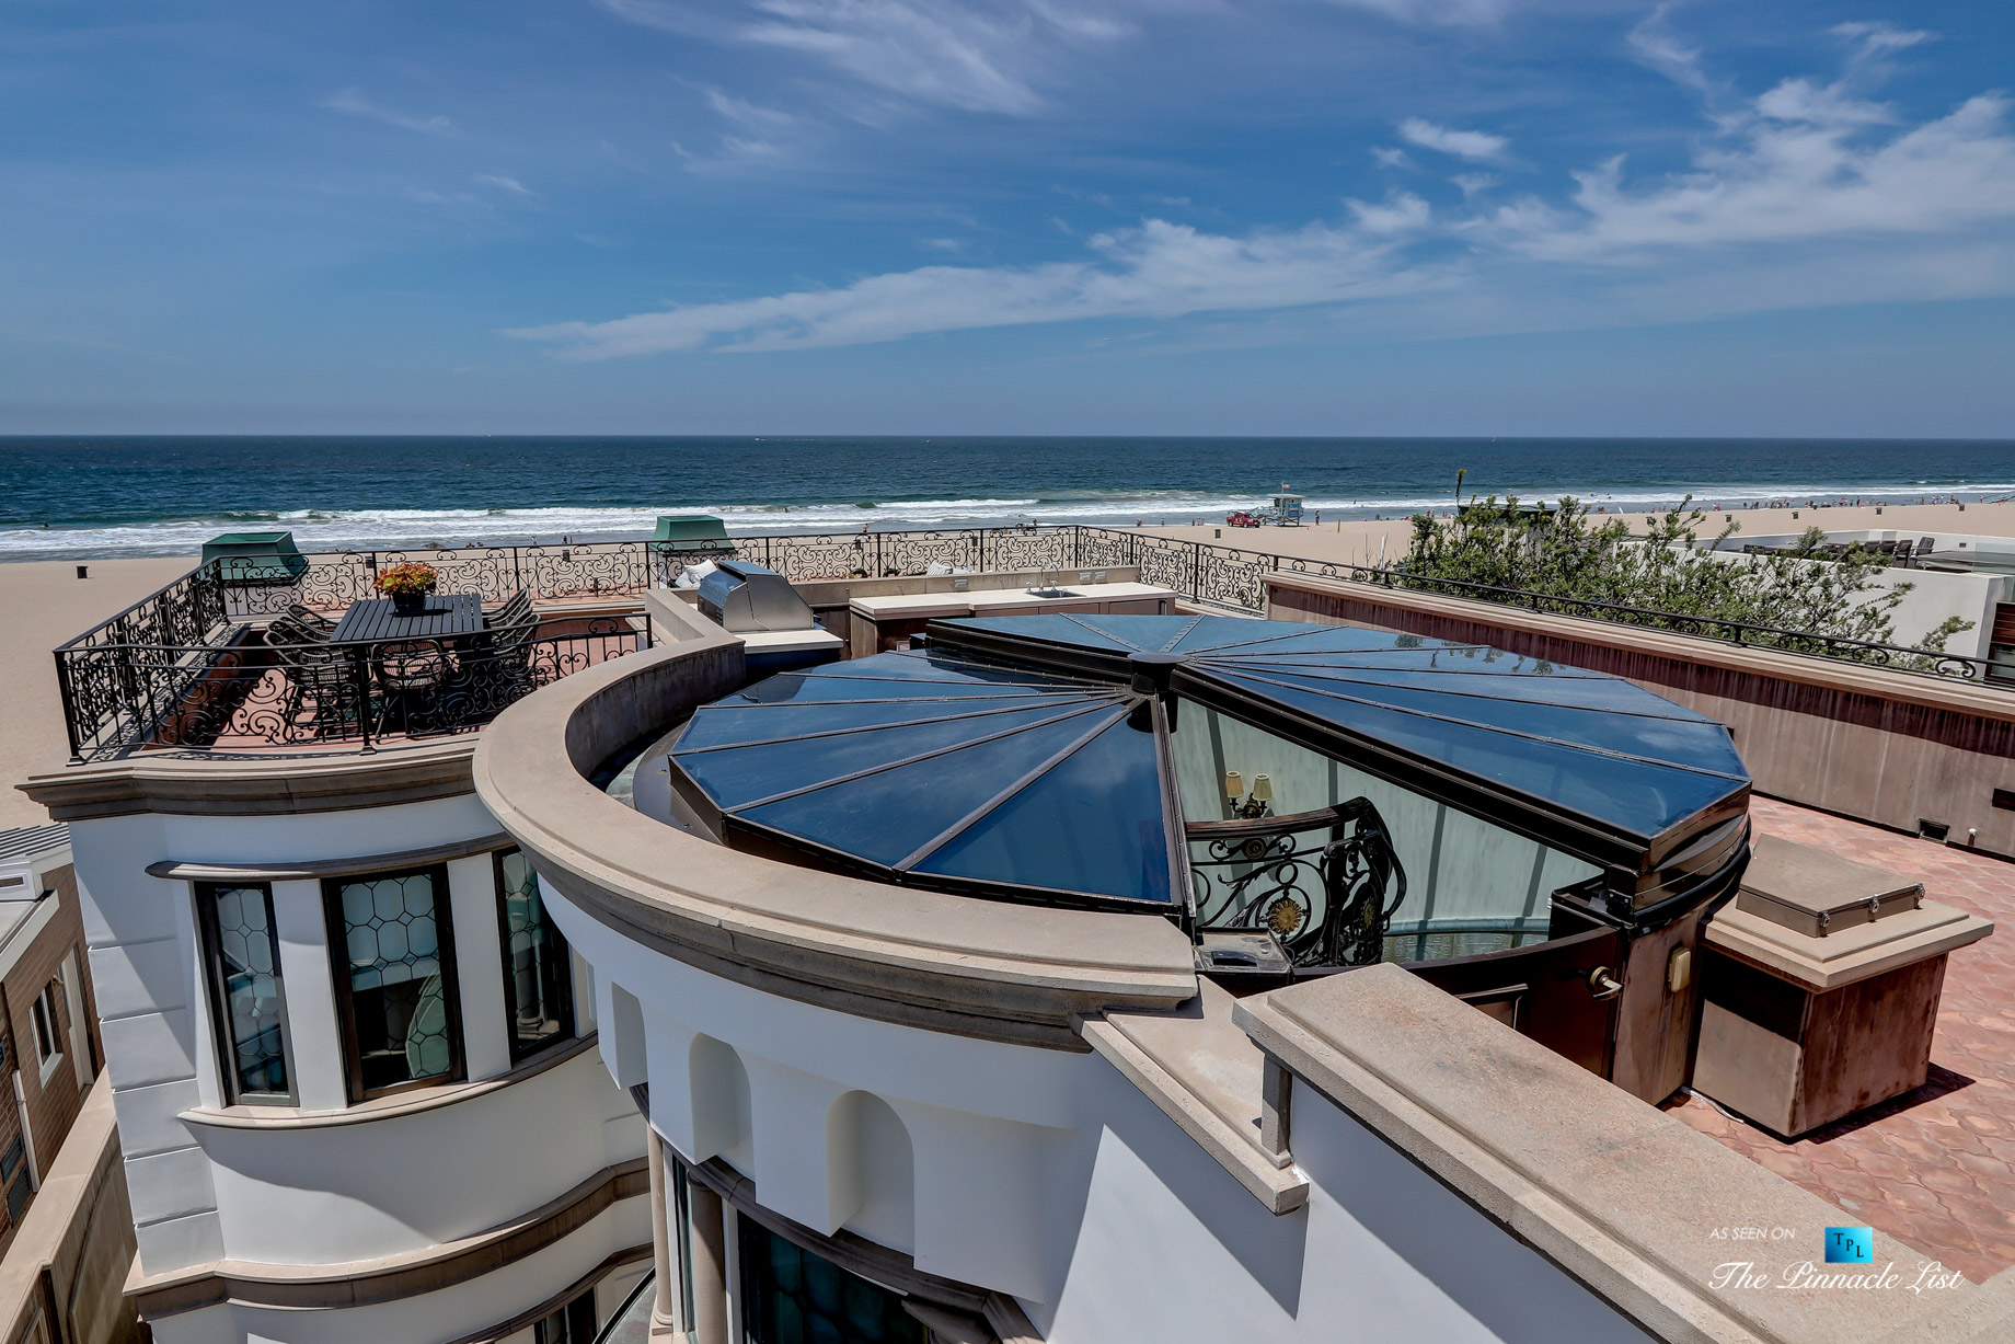
[{"label": "long stone coping atop the brown parapet wall at right", "polygon": [[1525,611],[1503,602],[1479,602],[1475,598],[1441,596],[1413,588],[1386,588],[1350,578],[1330,578],[1322,574],[1294,574],[1278,570],[1263,574],[1265,586],[1290,588],[1298,592],[1320,592],[1326,596],[1346,596],[1380,607],[1398,607],[1423,615],[1447,617],[1453,621],[1473,621],[1483,625],[1517,627],[1531,635],[1554,635],[1586,645],[1626,649],[1630,653],[1658,653],[1687,663],[1701,663],[1701,649],[1711,647],[1715,667],[1747,671],[1759,677],[1795,681],[1801,685],[1844,691],[1850,695],[1874,695],[1880,699],[1944,709],[1987,719],[2015,723],[2015,693],[1999,687],[1985,687],[1953,677],[1918,677],[1910,673],[1884,671],[1864,663],[1842,659],[1809,657],[1799,653],[1777,653],[1751,645],[1735,645],[1725,639],[1705,635],[1674,635],[1652,631],[1642,625],[1622,625],[1616,621],[1596,621],[1592,617],[1556,617],[1550,613]]}]

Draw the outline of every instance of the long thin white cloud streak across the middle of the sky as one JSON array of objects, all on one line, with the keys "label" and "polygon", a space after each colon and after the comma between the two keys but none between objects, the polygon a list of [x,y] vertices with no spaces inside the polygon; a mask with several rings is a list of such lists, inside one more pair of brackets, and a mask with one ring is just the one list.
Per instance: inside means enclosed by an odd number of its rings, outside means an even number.
[{"label": "long thin white cloud streak across the middle of the sky", "polygon": [[[1425,216],[1410,206],[1368,208]],[[1382,220],[1382,224],[1386,224]],[[1227,238],[1149,220],[1090,240],[1096,260],[1030,268],[923,266],[846,288],[689,304],[611,322],[508,330],[552,341],[572,359],[661,351],[784,351],[899,341],[923,332],[1173,318],[1362,300],[1441,284],[1362,228],[1312,224],[1294,234]]]}]

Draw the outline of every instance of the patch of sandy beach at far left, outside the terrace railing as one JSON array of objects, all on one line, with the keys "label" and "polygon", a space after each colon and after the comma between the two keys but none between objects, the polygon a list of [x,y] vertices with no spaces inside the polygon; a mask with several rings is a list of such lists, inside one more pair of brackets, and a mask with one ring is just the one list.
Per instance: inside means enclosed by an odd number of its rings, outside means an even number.
[{"label": "patch of sandy beach at far left, outside the terrace railing", "polygon": [[89,560],[85,564],[91,576],[79,578],[77,564],[0,564],[0,629],[6,631],[6,639],[0,639],[0,675],[10,689],[6,709],[0,711],[0,828],[46,822],[48,812],[28,802],[14,784],[71,758],[50,649],[195,568],[195,560],[187,556]]}]

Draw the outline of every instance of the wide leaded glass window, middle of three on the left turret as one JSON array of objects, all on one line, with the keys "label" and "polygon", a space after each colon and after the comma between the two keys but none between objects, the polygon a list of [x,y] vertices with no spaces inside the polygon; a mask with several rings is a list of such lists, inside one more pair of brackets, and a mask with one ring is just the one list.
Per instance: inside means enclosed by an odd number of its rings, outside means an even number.
[{"label": "wide leaded glass window, middle of three on the left turret", "polygon": [[461,1003],[447,868],[322,885],[351,1100],[461,1076]]}]

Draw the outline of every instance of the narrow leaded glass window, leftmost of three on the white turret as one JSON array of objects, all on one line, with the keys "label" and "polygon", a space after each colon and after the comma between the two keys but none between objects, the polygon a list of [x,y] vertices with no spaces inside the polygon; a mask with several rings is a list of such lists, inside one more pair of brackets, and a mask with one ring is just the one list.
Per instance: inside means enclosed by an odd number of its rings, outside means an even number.
[{"label": "narrow leaded glass window, leftmost of three on the white turret", "polygon": [[232,1102],[292,1104],[272,889],[199,885],[195,905],[210,959],[224,1094]]}]

